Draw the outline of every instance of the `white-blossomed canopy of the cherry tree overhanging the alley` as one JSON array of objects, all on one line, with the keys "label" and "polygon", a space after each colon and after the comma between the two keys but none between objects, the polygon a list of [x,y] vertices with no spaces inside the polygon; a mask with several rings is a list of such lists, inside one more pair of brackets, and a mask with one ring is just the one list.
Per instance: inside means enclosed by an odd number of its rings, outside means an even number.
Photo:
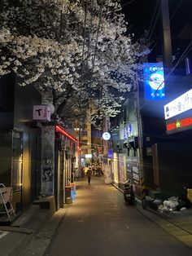
[{"label": "white-blossomed canopy of the cherry tree overhanging the alley", "polygon": [[[132,42],[120,0],[2,0],[0,76],[33,84],[65,121],[114,117],[147,47]],[[94,106],[94,108],[93,108]]]}]

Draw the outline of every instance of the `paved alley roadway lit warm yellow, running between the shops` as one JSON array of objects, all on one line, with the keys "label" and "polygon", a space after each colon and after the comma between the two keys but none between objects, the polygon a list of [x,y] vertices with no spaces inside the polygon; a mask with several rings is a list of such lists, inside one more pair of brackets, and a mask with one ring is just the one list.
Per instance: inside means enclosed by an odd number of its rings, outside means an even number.
[{"label": "paved alley roadway lit warm yellow, running between the shops", "polygon": [[123,195],[103,177],[77,183],[76,202],[44,255],[140,256],[192,255],[192,250],[138,210],[124,203]]}]

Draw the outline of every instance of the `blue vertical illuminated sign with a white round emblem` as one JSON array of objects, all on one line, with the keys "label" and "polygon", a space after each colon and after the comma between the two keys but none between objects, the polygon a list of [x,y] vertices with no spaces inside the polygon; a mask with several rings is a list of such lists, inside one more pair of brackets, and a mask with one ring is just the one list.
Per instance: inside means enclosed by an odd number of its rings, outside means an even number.
[{"label": "blue vertical illuminated sign with a white round emblem", "polygon": [[144,63],[145,99],[164,99],[164,67],[162,63]]}]

